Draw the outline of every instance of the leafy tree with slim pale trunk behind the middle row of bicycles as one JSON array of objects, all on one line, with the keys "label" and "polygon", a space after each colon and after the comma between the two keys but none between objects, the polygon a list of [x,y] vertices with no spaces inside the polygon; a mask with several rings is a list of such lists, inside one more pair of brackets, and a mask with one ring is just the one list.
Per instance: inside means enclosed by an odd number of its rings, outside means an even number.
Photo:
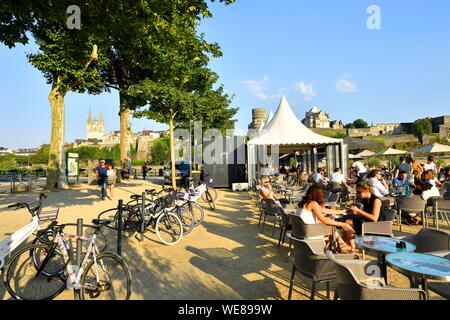
[{"label": "leafy tree with slim pale trunk behind the middle row of bicycles", "polygon": [[[172,185],[175,187],[174,128],[200,120],[204,127],[231,128],[237,109],[229,107],[230,97],[223,87],[214,89],[217,75],[207,68],[210,57],[219,57],[220,48],[197,34],[198,20],[209,16],[204,1],[194,1],[203,9],[172,1],[170,21],[161,21],[171,37],[170,45],[152,66],[152,74],[128,90],[130,101],[141,108],[136,117],[169,124]],[[145,62],[143,62],[145,63]]]}]

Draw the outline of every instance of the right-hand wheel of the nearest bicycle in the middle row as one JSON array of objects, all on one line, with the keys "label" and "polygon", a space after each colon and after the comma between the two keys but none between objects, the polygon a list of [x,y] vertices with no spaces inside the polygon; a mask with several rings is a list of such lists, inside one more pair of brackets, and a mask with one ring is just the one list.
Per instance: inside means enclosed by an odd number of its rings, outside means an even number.
[{"label": "right-hand wheel of the nearest bicycle in the middle row", "polygon": [[162,243],[174,245],[183,236],[183,223],[177,215],[171,212],[163,212],[156,219],[156,235]]}]

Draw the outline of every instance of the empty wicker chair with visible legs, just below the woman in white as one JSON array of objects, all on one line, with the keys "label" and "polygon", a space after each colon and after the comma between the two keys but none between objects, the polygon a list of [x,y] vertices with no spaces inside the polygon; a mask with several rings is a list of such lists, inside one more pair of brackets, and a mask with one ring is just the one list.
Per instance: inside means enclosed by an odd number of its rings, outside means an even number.
[{"label": "empty wicker chair with visible legs, just below the woman in white", "polygon": [[[294,243],[294,264],[292,266],[291,281],[289,285],[288,300],[292,297],[295,275],[298,272],[312,280],[310,299],[314,300],[316,284],[325,282],[327,298],[330,298],[330,281],[336,279],[335,265],[324,253],[324,240],[301,240],[289,235]],[[341,259],[354,259],[353,255],[338,255]]]}]

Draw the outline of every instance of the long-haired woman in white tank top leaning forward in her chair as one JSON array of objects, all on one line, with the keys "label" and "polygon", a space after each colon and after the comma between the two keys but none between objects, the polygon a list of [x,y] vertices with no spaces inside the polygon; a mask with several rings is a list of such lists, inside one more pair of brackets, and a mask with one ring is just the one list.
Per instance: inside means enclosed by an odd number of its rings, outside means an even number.
[{"label": "long-haired woman in white tank top leaning forward in her chair", "polygon": [[334,221],[326,217],[327,214],[344,214],[345,210],[326,209],[324,204],[323,189],[319,186],[311,186],[306,191],[302,201],[298,204],[299,208],[297,209],[296,214],[300,216],[305,224],[322,223],[329,226],[341,227],[343,229],[344,238],[348,239],[348,242],[345,242],[340,237],[339,233],[336,232],[334,238],[339,244],[340,251],[342,253],[356,251],[353,228],[348,223]]}]

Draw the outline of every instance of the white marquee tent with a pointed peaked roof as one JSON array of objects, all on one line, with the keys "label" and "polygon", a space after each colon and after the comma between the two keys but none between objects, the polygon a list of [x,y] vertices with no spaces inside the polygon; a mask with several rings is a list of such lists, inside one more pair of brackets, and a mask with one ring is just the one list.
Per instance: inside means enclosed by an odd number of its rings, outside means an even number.
[{"label": "white marquee tent with a pointed peaked roof", "polygon": [[[263,162],[263,153],[285,154],[300,151],[309,170],[317,167],[317,148],[327,148],[327,167],[346,168],[347,146],[342,139],[321,136],[308,129],[292,111],[285,97],[281,98],[275,115],[264,128],[248,142],[248,181],[257,177],[257,164]],[[343,170],[346,172],[346,170]]]}]

